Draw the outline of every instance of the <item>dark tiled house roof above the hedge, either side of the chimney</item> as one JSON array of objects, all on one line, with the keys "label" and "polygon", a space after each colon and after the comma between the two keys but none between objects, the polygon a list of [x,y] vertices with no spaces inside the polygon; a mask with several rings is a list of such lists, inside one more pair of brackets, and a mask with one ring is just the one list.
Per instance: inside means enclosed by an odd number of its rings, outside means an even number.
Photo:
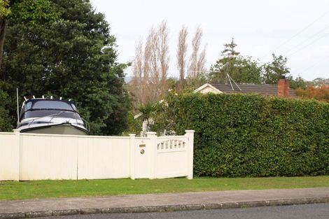
[{"label": "dark tiled house roof above the hedge, either side of the chimney", "polygon": [[[220,90],[224,93],[258,93],[264,95],[277,95],[278,86],[277,85],[267,85],[267,84],[221,84],[221,83],[211,83],[212,86],[216,87],[217,90]],[[239,89],[239,87],[241,90]],[[233,87],[233,89],[232,89]],[[295,90],[290,89],[290,97],[296,97]]]}]

